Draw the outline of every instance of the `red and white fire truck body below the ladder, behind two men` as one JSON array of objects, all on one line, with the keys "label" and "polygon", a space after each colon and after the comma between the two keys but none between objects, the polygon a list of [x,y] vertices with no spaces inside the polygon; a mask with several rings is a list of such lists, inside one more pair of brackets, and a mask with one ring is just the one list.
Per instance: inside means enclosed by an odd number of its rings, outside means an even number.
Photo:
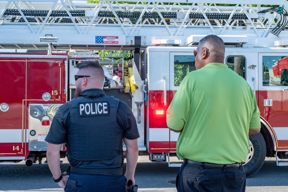
[{"label": "red and white fire truck body below the ladder, behind two men", "polygon": [[[179,165],[170,162],[170,157],[175,156],[178,134],[169,131],[166,110],[184,76],[196,69],[195,48],[148,47],[140,56],[140,73],[133,60],[130,62],[139,88],[133,93],[121,93],[120,81],[105,90],[133,110],[140,132],[139,149],[148,152],[151,161]],[[250,136],[247,175],[258,171],[266,156],[288,158],[288,86],[275,84],[271,73],[274,64],[281,64],[287,56],[287,48],[226,48],[226,64],[251,85],[261,112],[261,133]],[[36,160],[41,163],[52,118],[61,104],[73,98],[76,64],[87,59],[98,56],[1,53],[0,73],[5,79],[0,101],[1,161],[26,160],[28,166]],[[65,156],[64,145],[61,154]]]}]

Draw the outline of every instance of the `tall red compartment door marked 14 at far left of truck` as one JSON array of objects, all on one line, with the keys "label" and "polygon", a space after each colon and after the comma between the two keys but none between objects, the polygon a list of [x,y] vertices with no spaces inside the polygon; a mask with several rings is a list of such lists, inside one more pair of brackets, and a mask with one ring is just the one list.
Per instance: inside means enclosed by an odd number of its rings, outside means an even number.
[{"label": "tall red compartment door marked 14 at far left of truck", "polygon": [[[25,156],[26,66],[25,58],[0,58],[0,159]],[[11,159],[11,158],[10,158]]]}]

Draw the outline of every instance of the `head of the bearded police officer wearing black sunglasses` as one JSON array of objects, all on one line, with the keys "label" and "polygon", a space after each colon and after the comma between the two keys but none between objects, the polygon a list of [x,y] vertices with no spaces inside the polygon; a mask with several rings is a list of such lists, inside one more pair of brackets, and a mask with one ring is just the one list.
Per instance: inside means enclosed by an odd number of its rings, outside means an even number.
[{"label": "head of the bearded police officer wearing black sunglasses", "polygon": [[82,77],[76,80],[76,86],[81,86],[81,91],[90,88],[103,88],[104,84],[104,71],[99,64],[98,60],[83,61],[76,65],[79,69],[76,75],[84,75],[90,77]]}]

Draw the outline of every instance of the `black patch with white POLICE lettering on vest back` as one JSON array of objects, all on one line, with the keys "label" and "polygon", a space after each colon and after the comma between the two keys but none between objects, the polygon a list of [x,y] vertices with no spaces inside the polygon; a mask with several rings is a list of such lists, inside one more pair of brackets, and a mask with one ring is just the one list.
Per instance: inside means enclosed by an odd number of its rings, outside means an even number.
[{"label": "black patch with white POLICE lettering on vest back", "polygon": [[79,103],[79,117],[109,115],[108,102]]}]

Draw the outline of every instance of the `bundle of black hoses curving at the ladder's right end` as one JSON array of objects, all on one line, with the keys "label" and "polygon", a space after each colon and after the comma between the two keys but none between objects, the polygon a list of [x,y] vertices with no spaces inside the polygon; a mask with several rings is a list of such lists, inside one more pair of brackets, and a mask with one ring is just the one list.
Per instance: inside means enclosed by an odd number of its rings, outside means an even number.
[{"label": "bundle of black hoses curving at the ladder's right end", "polygon": [[272,11],[280,14],[280,21],[278,25],[271,31],[274,35],[278,36],[288,23],[288,19],[287,19],[288,13],[284,9],[284,7],[272,7],[269,9],[259,11],[258,13],[267,13],[267,12],[272,12]]}]

